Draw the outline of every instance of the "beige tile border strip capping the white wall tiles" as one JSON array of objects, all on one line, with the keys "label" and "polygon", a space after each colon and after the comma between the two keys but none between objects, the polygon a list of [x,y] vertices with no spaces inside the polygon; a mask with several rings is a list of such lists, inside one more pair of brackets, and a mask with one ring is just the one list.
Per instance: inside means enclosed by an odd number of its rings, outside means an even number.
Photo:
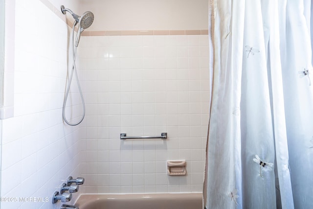
[{"label": "beige tile border strip capping the white wall tiles", "polygon": [[[73,22],[68,21],[60,9],[53,6],[49,0],[40,0],[56,14],[61,20],[72,27]],[[138,35],[208,35],[208,29],[201,30],[94,30],[84,31],[82,36],[138,36]]]}]

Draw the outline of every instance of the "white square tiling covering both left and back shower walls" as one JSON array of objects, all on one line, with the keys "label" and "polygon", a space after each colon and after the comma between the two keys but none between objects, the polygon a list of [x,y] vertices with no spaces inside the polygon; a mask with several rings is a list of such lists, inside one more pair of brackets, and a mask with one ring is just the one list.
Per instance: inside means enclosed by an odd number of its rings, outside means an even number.
[{"label": "white square tiling covering both left and back shower walls", "polygon": [[[71,127],[62,121],[70,33],[65,16],[48,0],[15,0],[13,10],[14,117],[0,121],[1,197],[43,199],[2,201],[1,209],[59,209],[52,195],[69,175],[85,177],[85,184],[68,204],[81,193],[202,190],[207,35],[83,36],[77,67],[86,117]],[[25,17],[32,21],[25,24]],[[81,114],[78,96],[71,94],[67,103],[75,117]],[[119,139],[120,133],[161,132],[168,139]],[[168,176],[167,160],[186,160],[187,176]]]}]

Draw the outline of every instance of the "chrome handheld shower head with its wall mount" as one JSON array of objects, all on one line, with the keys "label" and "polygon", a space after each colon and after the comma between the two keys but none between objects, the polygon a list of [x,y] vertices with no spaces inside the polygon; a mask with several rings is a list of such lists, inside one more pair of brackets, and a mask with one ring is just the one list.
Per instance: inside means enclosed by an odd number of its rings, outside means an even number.
[{"label": "chrome handheld shower head with its wall mount", "polygon": [[85,12],[82,16],[78,16],[74,12],[72,12],[72,10],[65,8],[64,5],[61,5],[61,11],[63,14],[66,14],[66,12],[69,12],[73,16],[76,23],[79,23],[77,36],[76,36],[76,42],[75,42],[75,46],[77,47],[79,40],[80,40],[81,33],[86,28],[89,28],[90,25],[93,23],[93,19],[94,19],[93,13],[88,11],[88,12]]}]

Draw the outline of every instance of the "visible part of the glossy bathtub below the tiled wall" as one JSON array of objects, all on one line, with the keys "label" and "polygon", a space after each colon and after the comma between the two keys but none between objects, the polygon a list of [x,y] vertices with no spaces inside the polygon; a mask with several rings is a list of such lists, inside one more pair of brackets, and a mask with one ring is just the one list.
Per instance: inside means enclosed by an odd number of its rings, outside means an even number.
[{"label": "visible part of the glossy bathtub below the tiled wall", "polygon": [[82,194],[79,209],[201,209],[202,193]]}]

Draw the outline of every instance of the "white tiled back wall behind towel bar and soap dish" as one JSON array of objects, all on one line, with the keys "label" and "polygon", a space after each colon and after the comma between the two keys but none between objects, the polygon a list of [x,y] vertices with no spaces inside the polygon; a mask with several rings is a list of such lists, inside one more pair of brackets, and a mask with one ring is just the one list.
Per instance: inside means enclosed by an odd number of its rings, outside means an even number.
[{"label": "white tiled back wall behind towel bar and soap dish", "polygon": [[[201,192],[208,125],[206,35],[82,37],[86,192]],[[128,136],[168,139],[120,140]],[[167,176],[186,160],[187,176]]]}]

